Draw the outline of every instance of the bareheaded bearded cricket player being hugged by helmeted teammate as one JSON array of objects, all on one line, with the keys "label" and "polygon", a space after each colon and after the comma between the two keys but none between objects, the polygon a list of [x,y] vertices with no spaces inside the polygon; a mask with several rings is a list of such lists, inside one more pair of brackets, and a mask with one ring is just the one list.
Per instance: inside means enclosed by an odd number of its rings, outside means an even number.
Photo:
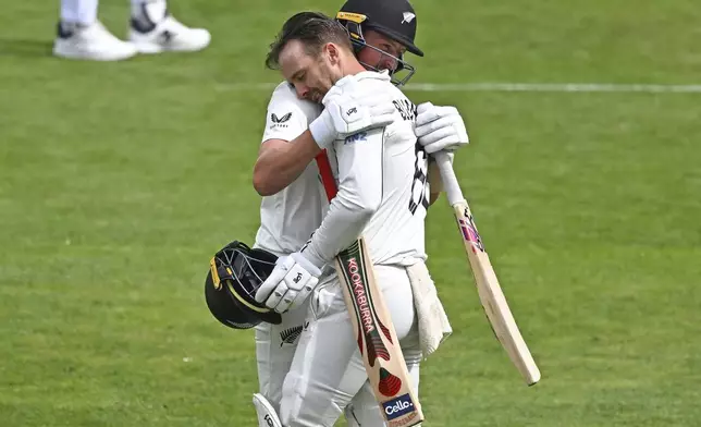
[{"label": "bareheaded bearded cricket player being hugged by helmeted teammate", "polygon": [[[399,10],[397,16],[401,20],[397,22],[407,22],[407,12],[406,9]],[[415,25],[409,29],[410,46]],[[417,109],[390,84],[386,73],[365,71],[354,57],[346,28],[336,22],[313,13],[295,15],[273,45],[269,64],[280,65],[299,97],[313,100],[323,97],[324,112],[334,111],[330,114],[332,121],[354,122],[354,115],[362,118],[356,108],[339,108],[347,105],[348,100],[358,102],[359,95],[389,96],[395,108],[394,122],[389,126],[370,129],[345,139],[329,137],[327,129],[317,121],[309,123],[306,137],[316,143],[316,150],[307,152],[305,147],[298,150],[302,155],[297,155],[313,157],[320,149],[328,149],[335,166],[340,192],[309,245],[283,256],[256,294],[259,302],[266,302],[280,313],[288,313],[288,309],[294,312],[295,307],[303,305],[313,291],[310,316],[297,333],[300,339],[284,381],[280,414],[286,427],[332,426],[341,411],[347,410],[352,399],[361,394],[367,375],[352,339],[348,313],[337,279],[331,276],[323,284],[317,284],[321,269],[361,232],[371,247],[378,281],[388,295],[397,337],[409,371],[415,377],[415,386],[418,386],[421,349],[416,332],[409,269],[420,265],[422,270],[414,268],[415,273],[426,271],[423,219],[428,205],[428,159],[423,150],[416,149],[414,125]],[[272,122],[280,123],[280,117],[275,113],[278,120],[273,118]],[[440,126],[429,127],[427,135]],[[303,141],[296,139],[294,144]],[[467,143],[466,133],[463,139],[463,144]],[[448,148],[446,141],[441,137],[432,143]],[[294,281],[290,280],[291,274]],[[425,274],[428,277],[427,271]],[[297,280],[299,278],[302,280]],[[369,418],[367,423],[354,419],[355,425],[382,426],[377,405],[374,414],[374,419]],[[261,425],[266,424],[261,422]]]}]

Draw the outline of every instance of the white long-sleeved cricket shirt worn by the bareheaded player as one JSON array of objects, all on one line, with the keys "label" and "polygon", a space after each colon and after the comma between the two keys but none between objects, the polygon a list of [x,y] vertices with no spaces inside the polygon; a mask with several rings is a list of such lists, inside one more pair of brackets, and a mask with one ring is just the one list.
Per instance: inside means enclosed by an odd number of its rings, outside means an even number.
[{"label": "white long-sleeved cricket shirt worn by the bareheaded player", "polygon": [[395,121],[336,141],[329,149],[339,193],[304,254],[317,265],[329,263],[362,234],[373,264],[426,260],[428,157],[417,148],[416,107],[385,74],[362,72],[356,78],[364,91],[392,97]]}]

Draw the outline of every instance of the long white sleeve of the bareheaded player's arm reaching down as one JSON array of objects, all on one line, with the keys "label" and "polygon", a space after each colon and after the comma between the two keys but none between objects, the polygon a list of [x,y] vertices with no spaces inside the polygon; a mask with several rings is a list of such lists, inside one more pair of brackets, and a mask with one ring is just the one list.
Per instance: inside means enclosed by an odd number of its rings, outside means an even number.
[{"label": "long white sleeve of the bareheaded player's arm reaching down", "polygon": [[336,141],[334,148],[339,193],[303,249],[305,257],[319,268],[358,239],[382,202],[384,129]]}]

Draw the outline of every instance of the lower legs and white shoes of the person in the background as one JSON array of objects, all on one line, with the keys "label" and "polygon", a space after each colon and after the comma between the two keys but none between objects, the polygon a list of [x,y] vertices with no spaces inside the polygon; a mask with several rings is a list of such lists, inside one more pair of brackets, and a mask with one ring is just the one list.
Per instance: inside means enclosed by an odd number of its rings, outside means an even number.
[{"label": "lower legs and white shoes of the person in the background", "polygon": [[181,24],[165,0],[131,0],[128,41],[110,33],[97,19],[99,0],[61,0],[61,21],[53,54],[93,61],[120,61],[136,53],[197,51],[209,45],[207,29]]}]

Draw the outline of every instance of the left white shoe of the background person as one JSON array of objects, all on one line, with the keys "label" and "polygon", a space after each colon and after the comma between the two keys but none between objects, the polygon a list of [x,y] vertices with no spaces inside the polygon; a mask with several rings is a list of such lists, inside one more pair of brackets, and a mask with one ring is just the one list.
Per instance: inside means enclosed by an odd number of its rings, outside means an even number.
[{"label": "left white shoe of the background person", "polygon": [[90,25],[59,23],[53,54],[90,61],[120,61],[137,53],[136,47],[114,37],[99,21]]}]

